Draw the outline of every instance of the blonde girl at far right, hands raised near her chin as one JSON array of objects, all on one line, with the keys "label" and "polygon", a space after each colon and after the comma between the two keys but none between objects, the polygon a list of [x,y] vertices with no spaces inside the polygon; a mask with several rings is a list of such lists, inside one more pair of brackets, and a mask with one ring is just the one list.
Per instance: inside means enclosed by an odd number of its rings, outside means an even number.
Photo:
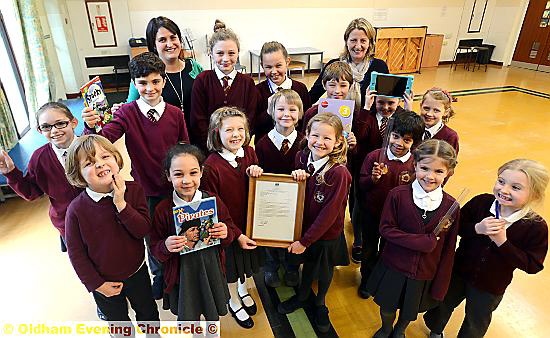
[{"label": "blonde girl at far right, hands raised near her chin", "polygon": [[430,337],[443,336],[464,299],[458,337],[483,337],[514,270],[535,274],[543,269],[548,227],[532,208],[542,203],[547,186],[548,171],[542,164],[515,159],[498,169],[492,194],[480,194],[464,205],[449,291],[424,315]]}]

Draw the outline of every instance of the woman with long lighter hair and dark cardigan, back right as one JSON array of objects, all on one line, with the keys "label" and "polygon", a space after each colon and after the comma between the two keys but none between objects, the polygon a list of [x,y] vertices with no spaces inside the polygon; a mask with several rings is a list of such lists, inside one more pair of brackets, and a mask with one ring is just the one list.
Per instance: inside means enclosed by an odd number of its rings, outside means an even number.
[{"label": "woman with long lighter hair and dark cardigan, back right", "polygon": [[[309,96],[311,97],[311,103],[317,102],[321,95],[325,92],[321,80],[323,74],[328,65],[335,61],[347,62],[353,71],[353,79],[355,84],[351,90],[358,91],[361,95],[355,95],[355,97],[361,97],[361,107],[365,106],[365,93],[370,83],[370,74],[373,71],[379,73],[389,73],[388,65],[386,62],[374,57],[376,31],[374,27],[364,18],[358,18],[352,20],[346,31],[344,32],[344,50],[340,54],[339,58],[330,60],[319,77],[311,87]],[[367,107],[368,110],[370,107]]]}]

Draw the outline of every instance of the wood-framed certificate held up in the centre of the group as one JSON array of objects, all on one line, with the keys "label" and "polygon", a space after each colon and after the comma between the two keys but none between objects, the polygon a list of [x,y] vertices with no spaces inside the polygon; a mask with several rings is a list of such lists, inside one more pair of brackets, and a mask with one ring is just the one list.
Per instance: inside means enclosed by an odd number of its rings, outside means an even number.
[{"label": "wood-framed certificate held up in the centre of the group", "polygon": [[306,182],[290,175],[250,178],[246,235],[259,246],[286,248],[302,235]]}]

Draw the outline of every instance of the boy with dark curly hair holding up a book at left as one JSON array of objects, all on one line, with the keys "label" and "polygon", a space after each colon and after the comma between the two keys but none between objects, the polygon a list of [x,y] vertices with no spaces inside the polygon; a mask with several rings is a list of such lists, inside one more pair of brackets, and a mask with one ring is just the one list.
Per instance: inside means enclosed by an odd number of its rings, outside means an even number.
[{"label": "boy with dark curly hair holding up a book at left", "polygon": [[[132,162],[131,174],[145,190],[151,216],[156,205],[172,190],[162,174],[164,155],[178,142],[189,143],[183,112],[162,100],[162,88],[166,84],[165,67],[162,60],[151,52],[134,57],[129,63],[130,76],[140,98],[120,107],[114,119],[99,132],[111,142],[125,135],[126,149]],[[85,108],[82,117],[86,122],[86,133],[94,132],[99,119],[97,113]],[[154,275],[153,292],[155,298],[160,299],[162,265],[151,254],[148,257]]]}]

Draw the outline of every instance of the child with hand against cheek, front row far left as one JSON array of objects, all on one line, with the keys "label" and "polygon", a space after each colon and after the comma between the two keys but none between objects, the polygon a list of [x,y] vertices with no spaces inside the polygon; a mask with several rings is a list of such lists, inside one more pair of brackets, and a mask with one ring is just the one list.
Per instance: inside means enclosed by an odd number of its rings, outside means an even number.
[{"label": "child with hand against cheek, front row far left", "polygon": [[122,157],[104,137],[82,136],[69,148],[67,179],[86,188],[67,209],[71,263],[109,322],[158,322],[143,238],[151,222],[143,190],[119,175]]}]

